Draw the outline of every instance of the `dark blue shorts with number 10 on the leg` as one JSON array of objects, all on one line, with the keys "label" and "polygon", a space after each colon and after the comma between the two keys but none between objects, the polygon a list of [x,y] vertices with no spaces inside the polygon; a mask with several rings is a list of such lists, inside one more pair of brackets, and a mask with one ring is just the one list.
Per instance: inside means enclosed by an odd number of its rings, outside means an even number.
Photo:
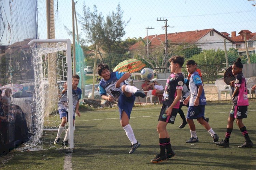
[{"label": "dark blue shorts with number 10 on the leg", "polygon": [[204,105],[188,106],[188,109],[187,109],[188,119],[197,119],[200,117],[204,119]]}]

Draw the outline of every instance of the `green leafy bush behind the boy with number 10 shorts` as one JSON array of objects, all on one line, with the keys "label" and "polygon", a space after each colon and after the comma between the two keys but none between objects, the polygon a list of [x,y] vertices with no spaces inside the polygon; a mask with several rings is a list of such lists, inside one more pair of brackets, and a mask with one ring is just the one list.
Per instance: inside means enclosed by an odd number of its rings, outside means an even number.
[{"label": "green leafy bush behind the boy with number 10 shorts", "polygon": [[211,81],[217,79],[217,74],[221,72],[225,64],[225,52],[218,49],[203,50],[200,54],[193,55],[191,60],[195,60],[198,68],[203,74],[203,80]]}]

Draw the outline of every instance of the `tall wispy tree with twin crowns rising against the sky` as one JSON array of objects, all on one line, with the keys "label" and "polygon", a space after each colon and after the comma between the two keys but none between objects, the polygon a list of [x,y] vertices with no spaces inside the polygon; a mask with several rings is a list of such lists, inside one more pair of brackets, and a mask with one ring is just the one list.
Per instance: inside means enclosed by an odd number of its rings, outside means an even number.
[{"label": "tall wispy tree with twin crowns rising against the sky", "polygon": [[[91,12],[89,7],[83,5],[83,16],[79,15],[79,22],[82,24],[86,35],[86,42],[96,45],[100,50],[107,53],[115,53],[120,49],[121,38],[125,35],[124,27],[127,26],[130,19],[125,22],[123,20],[123,11],[120,4],[117,5],[116,12],[112,12],[104,20],[102,13],[98,14],[97,7],[94,6],[94,11]],[[101,59],[102,55],[101,55]]]}]

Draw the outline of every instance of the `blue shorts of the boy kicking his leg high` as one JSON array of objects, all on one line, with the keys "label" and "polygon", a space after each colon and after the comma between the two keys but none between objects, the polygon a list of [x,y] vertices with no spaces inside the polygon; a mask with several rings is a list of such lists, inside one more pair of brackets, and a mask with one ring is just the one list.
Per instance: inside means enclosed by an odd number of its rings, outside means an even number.
[{"label": "blue shorts of the boy kicking his leg high", "polygon": [[120,120],[122,118],[123,111],[127,114],[127,116],[130,119],[131,110],[134,105],[135,96],[132,95],[131,97],[126,97],[124,92],[122,91],[119,99],[118,99],[118,107],[119,107],[119,116]]}]

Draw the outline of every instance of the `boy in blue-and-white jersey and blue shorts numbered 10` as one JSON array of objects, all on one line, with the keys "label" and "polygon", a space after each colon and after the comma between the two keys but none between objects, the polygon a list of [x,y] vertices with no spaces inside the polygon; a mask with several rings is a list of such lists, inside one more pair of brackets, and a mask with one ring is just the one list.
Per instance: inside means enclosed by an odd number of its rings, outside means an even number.
[{"label": "boy in blue-and-white jersey and blue shorts numbered 10", "polygon": [[210,133],[213,138],[213,142],[218,141],[218,135],[212,130],[209,123],[204,119],[204,106],[206,105],[206,98],[204,94],[203,84],[198,72],[196,72],[196,63],[194,60],[188,60],[186,63],[187,72],[191,74],[189,79],[190,96],[188,96],[183,103],[187,105],[189,101],[187,111],[187,122],[190,129],[191,138],[186,143],[198,142],[196,134],[196,126],[193,119],[203,125],[203,127]]}]

